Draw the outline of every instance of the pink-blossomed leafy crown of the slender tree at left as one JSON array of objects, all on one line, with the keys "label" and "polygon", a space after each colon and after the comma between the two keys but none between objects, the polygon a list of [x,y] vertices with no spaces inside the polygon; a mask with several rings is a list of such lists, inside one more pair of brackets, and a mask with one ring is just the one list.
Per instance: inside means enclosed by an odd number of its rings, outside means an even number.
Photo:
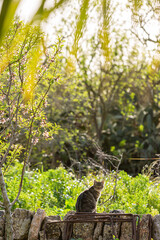
[{"label": "pink-blossomed leafy crown of the slender tree at left", "polygon": [[[51,85],[60,78],[60,45],[55,45],[44,55],[42,47],[37,51],[41,40],[38,28],[28,28],[22,22],[15,22],[0,48],[1,58],[4,59],[10,54],[11,41],[16,42],[14,54],[0,76],[2,163],[7,161],[9,164],[23,152],[24,147],[27,152],[40,137],[49,140],[58,130],[58,126],[47,123],[43,109]],[[50,68],[55,77],[50,76]]]}]

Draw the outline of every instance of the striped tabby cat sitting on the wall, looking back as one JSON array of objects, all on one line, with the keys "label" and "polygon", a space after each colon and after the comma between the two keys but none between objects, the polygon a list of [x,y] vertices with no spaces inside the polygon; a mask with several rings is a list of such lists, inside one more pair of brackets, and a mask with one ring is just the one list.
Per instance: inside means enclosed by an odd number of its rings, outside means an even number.
[{"label": "striped tabby cat sitting on the wall, looking back", "polygon": [[101,191],[104,187],[104,181],[97,182],[94,180],[94,184],[89,189],[82,192],[76,202],[76,212],[92,212],[96,213],[97,202],[101,195]]}]

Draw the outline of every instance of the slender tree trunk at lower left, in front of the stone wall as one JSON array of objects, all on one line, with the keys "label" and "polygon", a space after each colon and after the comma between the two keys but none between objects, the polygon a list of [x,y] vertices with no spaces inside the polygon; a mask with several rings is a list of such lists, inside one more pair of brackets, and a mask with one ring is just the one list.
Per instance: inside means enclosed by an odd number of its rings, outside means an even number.
[{"label": "slender tree trunk at lower left, in front of the stone wall", "polygon": [[3,204],[5,208],[5,239],[13,240],[11,204],[7,195],[6,185],[4,182],[4,177],[3,177],[1,167],[0,167],[0,186],[1,186],[1,192],[3,197]]}]

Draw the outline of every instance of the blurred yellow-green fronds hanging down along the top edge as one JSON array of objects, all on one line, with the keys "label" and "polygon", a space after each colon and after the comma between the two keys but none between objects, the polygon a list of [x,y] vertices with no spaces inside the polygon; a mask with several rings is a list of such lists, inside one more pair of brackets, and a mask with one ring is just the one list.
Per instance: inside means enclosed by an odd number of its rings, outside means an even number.
[{"label": "blurred yellow-green fronds hanging down along the top edge", "polygon": [[[33,14],[32,18],[29,21],[29,24],[36,23],[37,26],[40,27],[41,22],[46,20],[49,15],[53,12],[56,12],[57,9],[60,9],[62,7],[66,7],[66,3],[68,3],[68,0],[59,0],[53,3],[51,6],[47,5],[46,0],[41,0],[40,5],[37,6],[37,9],[35,13]],[[113,3],[115,5],[115,8],[117,6],[116,1],[111,0],[99,0],[99,1],[89,1],[89,0],[83,0],[79,1],[80,3],[80,11],[78,13],[78,16],[76,18],[76,26],[75,26],[75,33],[74,33],[74,43],[71,50],[71,53],[74,55],[77,55],[77,51],[79,49],[78,43],[80,38],[83,36],[83,32],[87,23],[87,20],[89,18],[89,11],[92,11],[92,8],[96,8],[98,10],[98,20],[100,22],[99,25],[99,40],[101,42],[101,50],[102,54],[105,57],[105,59],[110,60],[110,26],[112,24],[111,16],[114,12],[113,10]],[[144,32],[148,35],[148,39],[145,39],[145,41],[153,41],[156,42],[156,40],[153,40],[150,38],[150,34],[145,29],[145,24],[147,21],[144,21],[144,25],[141,22],[141,19],[144,19],[143,16],[141,17],[140,10],[143,9],[144,12],[146,9],[151,9],[151,11],[154,12],[153,15],[157,14],[157,1],[151,1],[145,0],[145,1],[137,1],[137,0],[128,0],[127,6],[132,12],[132,17],[135,18],[135,22],[140,22],[141,28],[144,30]],[[8,29],[10,28],[10,23],[13,21],[17,14],[17,9],[21,5],[22,0],[3,0],[2,1],[2,7],[0,11],[0,45],[3,42],[3,38],[5,37]],[[72,3],[71,3],[72,4]],[[47,7],[46,7],[47,5]],[[73,6],[73,4],[72,4]],[[98,7],[97,7],[98,6]],[[148,13],[147,13],[148,15]],[[153,17],[152,15],[152,17]],[[158,16],[158,14],[157,14]],[[139,18],[137,20],[137,18]],[[157,39],[157,43],[159,42],[159,39]],[[11,49],[14,48],[14,44],[11,43]],[[38,50],[39,46],[37,46]],[[10,58],[9,58],[10,59]]]}]

